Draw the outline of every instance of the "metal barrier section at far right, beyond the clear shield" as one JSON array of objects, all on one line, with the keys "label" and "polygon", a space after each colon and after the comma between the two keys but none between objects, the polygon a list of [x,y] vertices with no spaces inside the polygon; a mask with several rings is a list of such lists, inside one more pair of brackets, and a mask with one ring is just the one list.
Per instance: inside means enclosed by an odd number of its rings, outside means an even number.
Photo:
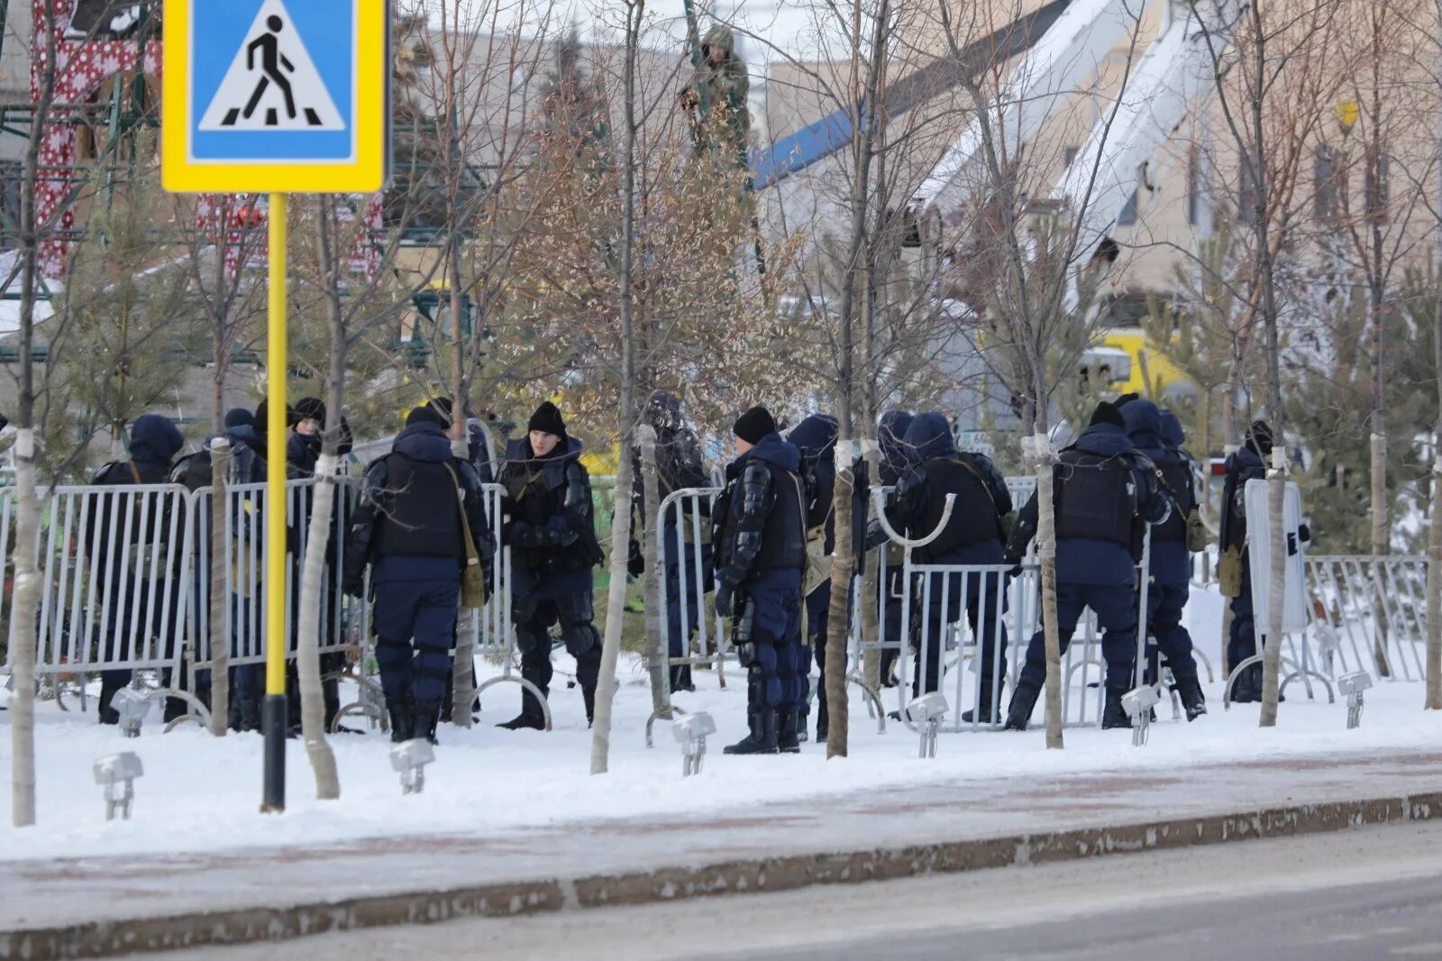
[{"label": "metal barrier section at far right, beyond the clear shield", "polygon": [[1426,677],[1425,557],[1308,557],[1306,580],[1309,628],[1327,675]]}]

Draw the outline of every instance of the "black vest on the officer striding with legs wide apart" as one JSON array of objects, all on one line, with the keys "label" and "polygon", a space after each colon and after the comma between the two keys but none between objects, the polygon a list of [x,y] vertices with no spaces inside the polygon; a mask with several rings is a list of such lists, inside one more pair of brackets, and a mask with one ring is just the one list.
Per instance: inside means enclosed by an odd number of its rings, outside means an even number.
[{"label": "black vest on the officer striding with legs wide apart", "polygon": [[1057,537],[1136,551],[1136,476],[1129,457],[1063,450],[1056,468]]}]

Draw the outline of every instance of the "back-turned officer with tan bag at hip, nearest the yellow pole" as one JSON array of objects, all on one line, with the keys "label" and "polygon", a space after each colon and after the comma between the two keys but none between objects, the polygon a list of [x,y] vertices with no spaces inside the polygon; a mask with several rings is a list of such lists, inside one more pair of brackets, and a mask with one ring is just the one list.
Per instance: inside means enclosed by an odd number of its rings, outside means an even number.
[{"label": "back-turned officer with tan bag at hip, nearest the yellow pole", "polygon": [[451,456],[441,426],[412,411],[391,453],[366,469],[345,558],[345,589],[352,596],[360,596],[371,564],[375,659],[397,742],[435,740],[467,556],[461,511],[489,569],[480,479]]}]

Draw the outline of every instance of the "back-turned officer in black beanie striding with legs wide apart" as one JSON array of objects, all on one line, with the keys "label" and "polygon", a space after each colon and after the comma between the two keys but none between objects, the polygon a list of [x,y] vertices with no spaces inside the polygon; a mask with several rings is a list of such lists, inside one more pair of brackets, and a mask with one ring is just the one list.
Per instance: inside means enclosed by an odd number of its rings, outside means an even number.
[{"label": "back-turned officer in black beanie striding with legs wide apart", "polygon": [[[1103,727],[1129,727],[1122,695],[1132,688],[1136,665],[1136,564],[1146,524],[1167,519],[1169,502],[1158,486],[1156,468],[1126,436],[1126,420],[1115,404],[1097,404],[1076,443],[1061,452],[1056,479],[1057,625],[1066,652],[1077,622],[1090,607],[1106,632],[1106,708]],[[1021,511],[1007,563],[1019,564],[1037,535],[1037,495]],[[1007,711],[1008,730],[1025,730],[1047,680],[1045,631],[1027,648],[1027,664]]]}]

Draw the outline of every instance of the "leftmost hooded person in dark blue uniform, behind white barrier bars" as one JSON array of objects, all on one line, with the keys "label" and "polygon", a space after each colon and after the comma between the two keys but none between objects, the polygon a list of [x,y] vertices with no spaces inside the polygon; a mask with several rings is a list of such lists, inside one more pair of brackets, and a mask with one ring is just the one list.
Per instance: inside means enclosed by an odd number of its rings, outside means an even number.
[{"label": "leftmost hooded person in dark blue uniform, behind white barrier bars", "polygon": [[[160,414],[137,417],[136,423],[130,426],[130,460],[105,465],[95,475],[92,483],[98,486],[164,483],[170,476],[170,462],[180,453],[180,447],[183,446],[185,437],[180,436],[180,430],[176,429],[170,418]],[[146,612],[140,609],[146,600],[146,592],[134,580],[130,570],[130,558],[120,556],[121,545],[128,541],[133,547],[144,547],[166,537],[164,525],[159,517],[151,518],[147,530],[141,530],[140,517],[131,517],[128,538],[123,537],[124,522],[124,517],[117,518],[115,537],[118,540],[112,543],[110,540],[110,518],[105,511],[97,508],[91,514],[85,547],[91,563],[104,564],[111,580],[110,619],[105,625],[104,639],[107,659],[120,655],[136,620],[140,619],[144,623],[146,618]],[[173,600],[177,599],[179,596],[173,596]],[[160,625],[162,620],[157,616],[154,623]],[[172,625],[172,631],[179,633],[180,625],[174,622],[174,612],[172,612],[169,623]],[[75,626],[78,628],[78,625]],[[137,639],[144,641],[138,633]],[[166,638],[164,641],[167,645],[173,642],[172,638]],[[120,716],[111,710],[110,703],[115,697],[115,693],[130,683],[130,671],[101,672],[99,721],[102,724],[120,723]],[[177,704],[180,703],[177,701]],[[166,708],[170,713],[174,710],[170,704]]]}]

